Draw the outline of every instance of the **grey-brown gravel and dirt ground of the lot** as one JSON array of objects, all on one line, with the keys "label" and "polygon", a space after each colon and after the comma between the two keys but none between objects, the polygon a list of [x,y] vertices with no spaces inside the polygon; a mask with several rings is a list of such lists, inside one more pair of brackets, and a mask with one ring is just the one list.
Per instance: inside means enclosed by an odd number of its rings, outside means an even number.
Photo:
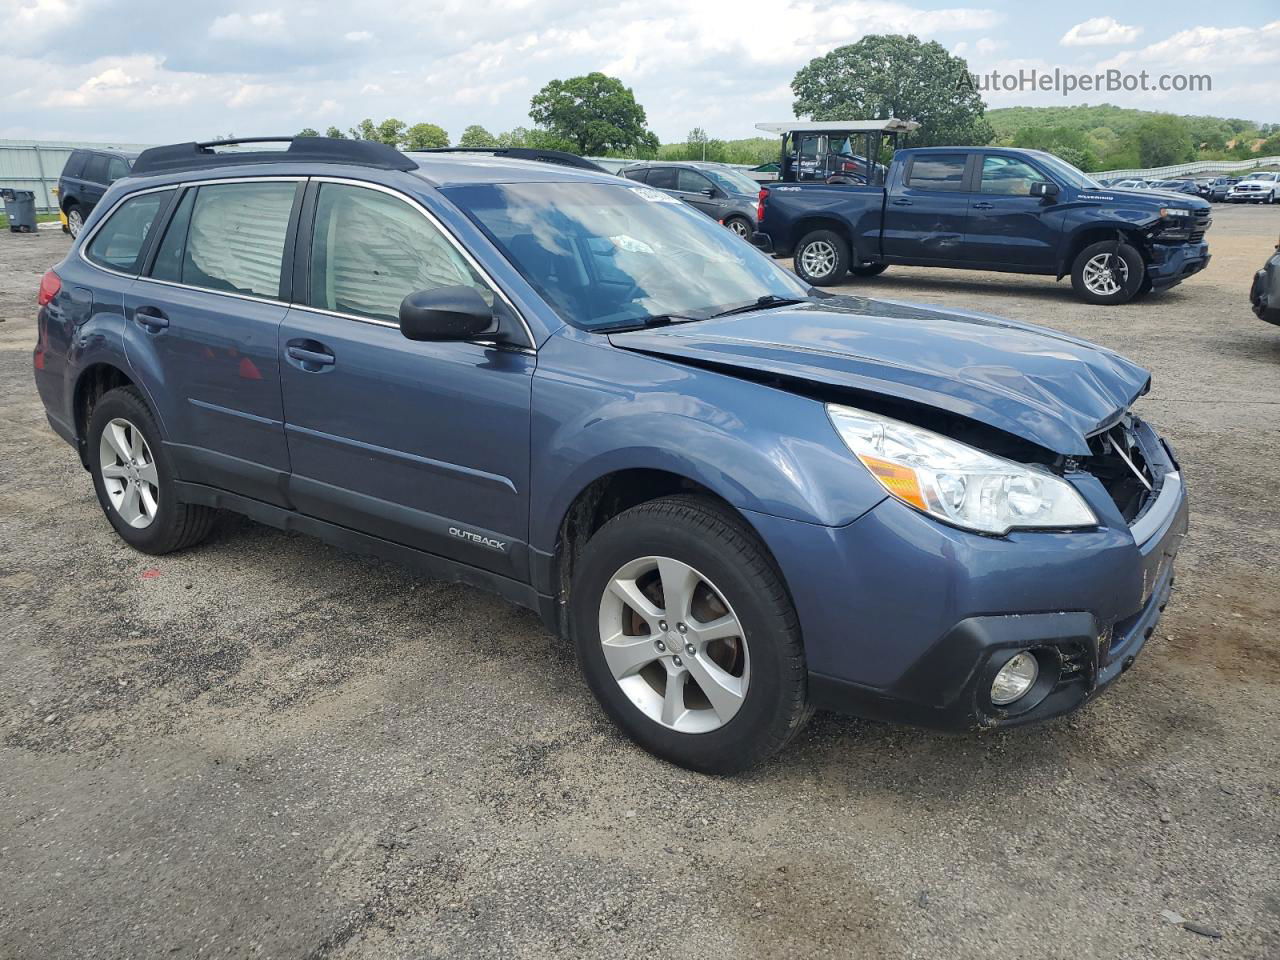
[{"label": "grey-brown gravel and dirt ground of the lot", "polygon": [[1219,207],[1211,266],[1120,308],[850,287],[1148,366],[1194,498],[1179,589],[1083,713],[818,716],[733,780],[628,745],[493,596],[234,517],[125,548],[32,385],[67,239],[0,236],[0,957],[1280,957],[1280,328],[1247,303],[1277,233]]}]

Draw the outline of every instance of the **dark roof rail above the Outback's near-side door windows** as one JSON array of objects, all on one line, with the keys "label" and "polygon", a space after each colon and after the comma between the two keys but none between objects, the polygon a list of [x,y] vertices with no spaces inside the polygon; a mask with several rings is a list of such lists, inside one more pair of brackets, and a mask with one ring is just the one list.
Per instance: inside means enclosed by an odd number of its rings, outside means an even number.
[{"label": "dark roof rail above the Outback's near-side door windows", "polygon": [[[288,143],[287,150],[232,150],[218,152],[214,147],[243,143]],[[415,170],[417,164],[394,147],[371,140],[334,140],[332,137],[241,137],[210,140],[202,143],[170,143],[151,147],[133,161],[134,177],[148,173],[202,170],[242,164],[324,163],[375,166],[380,170]]]}]

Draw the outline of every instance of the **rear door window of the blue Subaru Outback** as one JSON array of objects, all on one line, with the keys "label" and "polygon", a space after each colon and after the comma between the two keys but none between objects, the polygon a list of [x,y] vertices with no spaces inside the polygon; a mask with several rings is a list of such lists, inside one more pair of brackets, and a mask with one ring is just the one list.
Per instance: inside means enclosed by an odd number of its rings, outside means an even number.
[{"label": "rear door window of the blue Subaru Outback", "polygon": [[[180,283],[279,300],[284,241],[296,192],[293,180],[200,187],[182,251]],[[169,252],[160,251],[166,262]]]}]

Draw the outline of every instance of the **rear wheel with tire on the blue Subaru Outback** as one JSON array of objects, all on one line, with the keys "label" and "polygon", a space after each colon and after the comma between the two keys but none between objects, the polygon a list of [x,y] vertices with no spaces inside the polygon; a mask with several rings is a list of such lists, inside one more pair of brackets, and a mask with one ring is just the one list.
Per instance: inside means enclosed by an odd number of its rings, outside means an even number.
[{"label": "rear wheel with tire on the blue Subaru Outback", "polygon": [[161,554],[209,536],[216,511],[178,499],[160,429],[136,389],[102,394],[90,416],[87,443],[97,502],[122,540]]}]

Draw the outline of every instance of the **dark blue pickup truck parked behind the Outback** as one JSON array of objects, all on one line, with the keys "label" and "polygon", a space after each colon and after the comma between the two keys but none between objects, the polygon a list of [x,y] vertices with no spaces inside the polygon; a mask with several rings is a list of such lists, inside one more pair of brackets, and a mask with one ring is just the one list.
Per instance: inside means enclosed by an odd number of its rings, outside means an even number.
[{"label": "dark blue pickup truck parked behind the Outback", "polygon": [[1087,303],[1126,303],[1208,264],[1207,201],[1100,186],[1014,147],[899,150],[884,187],[765,184],[754,241],[809,283],[893,264],[1071,278]]}]

